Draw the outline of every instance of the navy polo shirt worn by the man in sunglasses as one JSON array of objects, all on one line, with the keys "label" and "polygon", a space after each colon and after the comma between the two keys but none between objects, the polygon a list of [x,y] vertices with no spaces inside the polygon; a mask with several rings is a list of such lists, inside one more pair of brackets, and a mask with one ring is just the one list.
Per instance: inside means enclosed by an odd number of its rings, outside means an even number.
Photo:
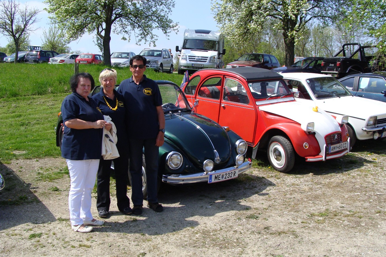
[{"label": "navy polo shirt worn by the man in sunglasses", "polygon": [[130,77],[120,83],[117,91],[125,99],[129,138],[156,138],[159,132],[156,106],[162,105],[157,83],[144,75],[137,85]]}]

